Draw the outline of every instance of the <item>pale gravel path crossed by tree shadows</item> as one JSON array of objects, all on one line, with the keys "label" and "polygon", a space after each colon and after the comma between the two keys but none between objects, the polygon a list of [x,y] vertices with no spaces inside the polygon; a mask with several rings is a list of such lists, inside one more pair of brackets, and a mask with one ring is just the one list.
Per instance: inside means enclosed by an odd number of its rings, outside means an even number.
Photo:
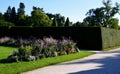
[{"label": "pale gravel path crossed by tree shadows", "polygon": [[120,48],[23,74],[120,74]]}]

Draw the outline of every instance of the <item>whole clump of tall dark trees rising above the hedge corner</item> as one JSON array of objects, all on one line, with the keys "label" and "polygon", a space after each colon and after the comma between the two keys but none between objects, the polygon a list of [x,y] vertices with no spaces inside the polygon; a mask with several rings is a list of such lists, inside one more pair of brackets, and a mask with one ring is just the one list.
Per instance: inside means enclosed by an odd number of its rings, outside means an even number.
[{"label": "whole clump of tall dark trees rising above the hedge corner", "polygon": [[[110,21],[113,17],[119,13],[120,5],[118,3],[112,6],[111,0],[103,1],[103,7],[90,9],[86,15],[88,15],[83,21],[89,26],[101,26],[111,28]],[[116,20],[117,21],[117,20]],[[112,24],[115,25],[115,24]]]}]

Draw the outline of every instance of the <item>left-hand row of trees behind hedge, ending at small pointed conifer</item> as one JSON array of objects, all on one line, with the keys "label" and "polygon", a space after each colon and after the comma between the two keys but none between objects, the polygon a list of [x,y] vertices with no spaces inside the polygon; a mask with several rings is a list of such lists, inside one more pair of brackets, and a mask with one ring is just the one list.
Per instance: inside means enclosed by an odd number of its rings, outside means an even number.
[{"label": "left-hand row of trees behind hedge, ending at small pointed conifer", "polygon": [[0,13],[0,26],[64,27],[70,26],[69,18],[60,14],[45,13],[43,8],[34,7],[31,16],[25,15],[24,3],[19,8],[9,6],[4,14]]}]

